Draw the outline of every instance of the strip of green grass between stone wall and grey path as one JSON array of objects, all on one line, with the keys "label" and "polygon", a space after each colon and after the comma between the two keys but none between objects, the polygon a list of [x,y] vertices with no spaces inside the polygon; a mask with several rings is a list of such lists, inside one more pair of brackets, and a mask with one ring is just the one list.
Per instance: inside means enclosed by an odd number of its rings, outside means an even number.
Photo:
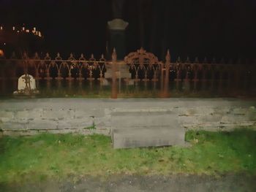
[{"label": "strip of green grass between stone wall and grey path", "polygon": [[110,174],[256,174],[256,131],[188,131],[192,147],[114,150],[102,135],[1,137],[0,183]]}]

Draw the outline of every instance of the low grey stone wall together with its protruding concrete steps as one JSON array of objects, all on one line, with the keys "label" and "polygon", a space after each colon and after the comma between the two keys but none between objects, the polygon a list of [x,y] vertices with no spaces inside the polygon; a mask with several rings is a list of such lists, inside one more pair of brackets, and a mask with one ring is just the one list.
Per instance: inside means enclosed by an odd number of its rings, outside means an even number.
[{"label": "low grey stone wall together with its protruding concrete steps", "polygon": [[[96,129],[88,129],[93,125]],[[255,99],[0,99],[0,134],[5,135],[112,132],[114,147],[145,141],[130,145],[135,147],[152,145],[149,140],[182,145],[175,139],[189,129],[233,128],[256,129]]]}]

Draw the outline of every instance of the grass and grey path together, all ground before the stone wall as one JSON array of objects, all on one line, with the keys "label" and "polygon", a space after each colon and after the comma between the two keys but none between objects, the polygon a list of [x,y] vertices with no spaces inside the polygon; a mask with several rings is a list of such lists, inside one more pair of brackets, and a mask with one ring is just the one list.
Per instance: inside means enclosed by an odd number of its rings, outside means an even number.
[{"label": "grass and grey path together, all ground before the stone wall", "polygon": [[187,131],[186,141],[114,150],[99,134],[2,136],[0,191],[255,191],[256,131]]}]

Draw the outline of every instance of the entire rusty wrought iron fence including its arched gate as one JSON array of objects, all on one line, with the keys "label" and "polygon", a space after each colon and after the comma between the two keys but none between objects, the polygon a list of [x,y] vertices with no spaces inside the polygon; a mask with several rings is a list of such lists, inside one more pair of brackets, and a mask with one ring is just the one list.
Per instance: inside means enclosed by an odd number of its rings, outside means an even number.
[{"label": "entire rusty wrought iron fence including its arched gate", "polygon": [[180,58],[176,62],[171,62],[170,53],[167,51],[165,61],[159,61],[153,53],[147,53],[140,48],[136,52],[129,53],[124,61],[116,60],[116,51],[113,51],[112,60],[107,61],[104,55],[96,59],[91,55],[86,59],[83,54],[75,58],[70,54],[69,58],[61,58],[58,53],[51,58],[47,53],[44,57],[39,57],[36,53],[29,58],[24,54],[22,58],[15,57],[0,58],[0,79],[17,80],[22,74],[31,74],[36,80],[72,80],[111,82],[112,97],[117,97],[117,80],[129,84],[136,82],[158,82],[161,87],[162,96],[168,96],[170,83],[180,82],[227,82],[234,84],[238,82],[249,82],[256,85],[256,62],[237,64],[219,64],[215,60],[208,62],[190,62],[189,58],[182,62]]}]

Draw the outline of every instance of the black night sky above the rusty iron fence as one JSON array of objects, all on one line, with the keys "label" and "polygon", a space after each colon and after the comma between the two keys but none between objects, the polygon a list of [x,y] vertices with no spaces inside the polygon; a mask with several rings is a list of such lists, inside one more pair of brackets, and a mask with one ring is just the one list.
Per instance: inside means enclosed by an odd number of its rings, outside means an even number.
[{"label": "black night sky above the rusty iron fence", "polygon": [[[44,50],[62,55],[105,53],[111,0],[0,0],[0,24],[36,26],[45,37]],[[127,53],[143,46],[172,60],[216,57],[256,58],[255,0],[127,0],[122,18]]]}]

